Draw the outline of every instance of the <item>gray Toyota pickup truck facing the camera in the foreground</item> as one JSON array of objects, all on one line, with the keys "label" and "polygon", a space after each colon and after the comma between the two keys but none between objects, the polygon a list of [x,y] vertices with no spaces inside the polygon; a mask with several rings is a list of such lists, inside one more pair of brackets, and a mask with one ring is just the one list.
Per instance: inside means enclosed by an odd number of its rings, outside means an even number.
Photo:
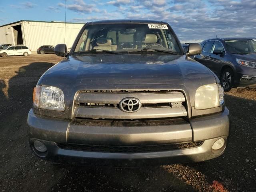
[{"label": "gray Toyota pickup truck facing the camera in the foreground", "polygon": [[28,113],[36,156],[57,163],[144,166],[220,156],[229,111],[214,73],[154,20],[88,22],[66,59],[34,88]]}]

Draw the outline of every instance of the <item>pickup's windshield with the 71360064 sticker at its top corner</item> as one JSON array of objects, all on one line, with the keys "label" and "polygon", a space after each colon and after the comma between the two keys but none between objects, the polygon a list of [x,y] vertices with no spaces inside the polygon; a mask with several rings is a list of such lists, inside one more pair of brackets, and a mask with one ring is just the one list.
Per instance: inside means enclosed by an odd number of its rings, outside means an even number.
[{"label": "pickup's windshield with the 71360064 sticker at its top corner", "polygon": [[167,25],[132,23],[86,26],[75,53],[84,54],[91,50],[128,53],[141,52],[143,49],[158,54],[157,50],[183,54]]}]

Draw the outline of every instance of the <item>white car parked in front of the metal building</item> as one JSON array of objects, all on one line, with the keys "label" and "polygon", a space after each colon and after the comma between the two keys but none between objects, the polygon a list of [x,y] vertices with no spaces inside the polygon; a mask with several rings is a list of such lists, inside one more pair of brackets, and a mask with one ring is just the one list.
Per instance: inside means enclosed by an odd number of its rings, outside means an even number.
[{"label": "white car parked in front of the metal building", "polygon": [[6,47],[4,50],[0,50],[0,55],[2,57],[14,56],[14,55],[23,55],[28,56],[32,54],[28,46],[25,45],[12,45]]}]

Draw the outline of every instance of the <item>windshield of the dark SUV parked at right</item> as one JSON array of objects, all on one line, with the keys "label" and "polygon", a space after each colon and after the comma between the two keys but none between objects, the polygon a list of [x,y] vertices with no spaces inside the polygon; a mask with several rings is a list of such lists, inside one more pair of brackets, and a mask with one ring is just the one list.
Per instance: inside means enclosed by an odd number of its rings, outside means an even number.
[{"label": "windshield of the dark SUV parked at right", "polygon": [[227,49],[233,54],[250,54],[256,52],[256,40],[229,40],[226,41]]}]

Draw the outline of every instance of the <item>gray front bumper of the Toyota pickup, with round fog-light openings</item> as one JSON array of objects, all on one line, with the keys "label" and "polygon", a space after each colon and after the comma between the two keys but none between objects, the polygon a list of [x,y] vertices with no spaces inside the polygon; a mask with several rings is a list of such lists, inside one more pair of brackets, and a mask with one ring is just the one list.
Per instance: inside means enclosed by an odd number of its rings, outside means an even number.
[{"label": "gray front bumper of the Toyota pickup, with round fog-light openings", "polygon": [[[189,122],[179,121],[169,125],[148,126],[139,122],[132,124],[111,121],[96,126],[54,118],[42,118],[30,110],[28,114],[29,137],[32,151],[44,160],[59,163],[94,164],[100,166],[146,166],[156,164],[172,164],[184,162],[200,162],[220,156],[225,145],[212,150],[212,145],[219,138],[227,141],[229,132],[229,111],[208,116],[192,118]],[[144,122],[145,123],[145,122]],[[116,127],[115,125],[120,125]],[[113,126],[114,125],[114,126]],[[118,131],[121,130],[121,131]],[[47,152],[38,152],[34,140],[40,140],[47,147]],[[157,152],[93,152],[60,148],[57,143],[75,143],[110,146],[172,144],[201,141],[203,144],[195,148],[165,150]]]}]

